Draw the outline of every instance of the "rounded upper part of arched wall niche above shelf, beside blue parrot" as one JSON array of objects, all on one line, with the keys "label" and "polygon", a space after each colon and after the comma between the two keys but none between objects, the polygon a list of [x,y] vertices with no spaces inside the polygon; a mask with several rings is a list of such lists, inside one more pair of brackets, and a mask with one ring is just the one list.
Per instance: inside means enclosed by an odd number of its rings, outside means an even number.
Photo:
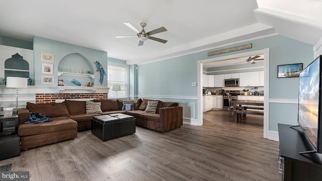
[{"label": "rounded upper part of arched wall niche above shelf, beside blue parrot", "polygon": [[94,61],[91,62],[81,53],[70,53],[60,60],[58,64],[58,71],[73,72],[75,69],[74,73],[82,73],[82,70],[85,74],[88,71],[94,73],[93,64]]}]

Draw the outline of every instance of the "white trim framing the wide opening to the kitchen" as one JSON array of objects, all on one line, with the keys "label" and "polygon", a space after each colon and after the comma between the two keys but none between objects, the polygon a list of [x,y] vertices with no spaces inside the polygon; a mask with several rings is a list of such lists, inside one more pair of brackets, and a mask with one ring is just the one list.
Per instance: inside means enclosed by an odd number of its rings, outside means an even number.
[{"label": "white trim framing the wide opening to the kitchen", "polygon": [[199,125],[203,124],[203,111],[202,111],[202,64],[206,62],[220,61],[233,59],[238,57],[254,56],[264,54],[264,138],[269,135],[269,54],[270,49],[265,48],[262,50],[249,51],[244,53],[237,53],[227,56],[221,56],[211,59],[198,60],[198,122]]}]

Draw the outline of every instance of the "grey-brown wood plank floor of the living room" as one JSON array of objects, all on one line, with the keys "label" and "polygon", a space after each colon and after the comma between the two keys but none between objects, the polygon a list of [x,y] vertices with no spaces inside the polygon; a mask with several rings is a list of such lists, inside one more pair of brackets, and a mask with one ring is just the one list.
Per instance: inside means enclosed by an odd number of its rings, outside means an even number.
[{"label": "grey-brown wood plank floor of the living room", "polygon": [[[204,113],[203,126],[136,133],[102,142],[91,131],[74,140],[0,161],[30,180],[281,180],[277,142],[263,138],[263,116],[235,124],[226,111]],[[4,148],[1,148],[4,149]]]}]

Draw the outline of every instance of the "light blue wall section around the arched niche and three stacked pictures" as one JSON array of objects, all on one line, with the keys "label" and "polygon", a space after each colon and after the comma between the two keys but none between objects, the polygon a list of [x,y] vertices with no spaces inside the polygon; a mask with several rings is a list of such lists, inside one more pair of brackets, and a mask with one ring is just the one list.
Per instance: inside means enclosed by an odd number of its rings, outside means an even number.
[{"label": "light blue wall section around the arched niche and three stacked pictures", "polygon": [[[81,46],[76,46],[64,42],[59,42],[55,40],[50,40],[42,37],[34,37],[34,78],[35,78],[35,85],[48,85],[48,86],[57,86],[57,71],[58,71],[58,65],[60,60],[62,60],[66,55],[72,54],[72,53],[77,53],[85,58],[82,58],[82,61],[77,61],[77,59],[74,60],[74,64],[70,65],[70,67],[63,67],[68,69],[70,72],[72,72],[72,69],[76,69],[76,73],[81,73],[79,72],[83,67],[84,71],[87,70],[88,66],[89,69],[94,70],[95,74],[95,81],[94,85],[95,86],[107,86],[107,76],[104,75],[104,81],[103,84],[101,85],[99,83],[100,80],[100,72],[96,71],[97,67],[96,64],[94,64],[94,61],[99,61],[102,65],[103,68],[105,68],[105,71],[107,70],[107,52],[99,51],[99,50],[94,50],[86,47],[81,47]],[[41,53],[49,53],[54,55],[54,62],[46,62],[46,61],[41,61]],[[83,59],[89,60],[89,64],[85,63]],[[42,63],[47,63],[47,64],[53,64],[53,74],[42,74],[41,73],[41,64]],[[54,76],[54,84],[42,84],[41,83],[41,75],[49,75],[49,76]],[[69,76],[69,79],[72,76]],[[88,80],[83,77],[74,77],[76,80],[81,82],[82,84],[85,84]],[[59,78],[60,79],[60,78]],[[68,82],[69,82],[68,79]],[[71,78],[72,79],[72,78]],[[65,83],[65,80],[64,80]],[[71,85],[71,84],[68,84]]]}]

